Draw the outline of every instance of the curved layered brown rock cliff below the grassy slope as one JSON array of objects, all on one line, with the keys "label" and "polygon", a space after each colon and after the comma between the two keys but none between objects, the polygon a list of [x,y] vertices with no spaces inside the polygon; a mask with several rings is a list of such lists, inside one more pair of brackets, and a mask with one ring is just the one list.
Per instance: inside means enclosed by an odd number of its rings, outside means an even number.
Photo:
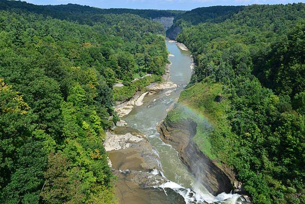
[{"label": "curved layered brown rock cliff below the grassy slope", "polygon": [[178,122],[162,121],[157,130],[161,139],[176,149],[181,161],[210,193],[214,196],[222,192],[230,193],[234,185],[234,182],[230,181],[230,176],[206,157],[192,140],[196,128],[197,124],[194,121],[184,119]]}]

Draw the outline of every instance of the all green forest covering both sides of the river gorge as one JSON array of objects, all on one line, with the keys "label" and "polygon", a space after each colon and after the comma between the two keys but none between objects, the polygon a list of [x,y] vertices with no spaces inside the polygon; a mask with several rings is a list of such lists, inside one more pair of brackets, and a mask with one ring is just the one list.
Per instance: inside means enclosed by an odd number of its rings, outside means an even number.
[{"label": "all green forest covering both sides of the river gorge", "polygon": [[200,150],[234,168],[253,203],[305,203],[304,3],[185,12],[0,0],[1,204],[118,203],[103,139],[115,102],[164,74],[157,16],[175,17],[167,33],[181,27],[195,62],[165,123],[194,120]]}]

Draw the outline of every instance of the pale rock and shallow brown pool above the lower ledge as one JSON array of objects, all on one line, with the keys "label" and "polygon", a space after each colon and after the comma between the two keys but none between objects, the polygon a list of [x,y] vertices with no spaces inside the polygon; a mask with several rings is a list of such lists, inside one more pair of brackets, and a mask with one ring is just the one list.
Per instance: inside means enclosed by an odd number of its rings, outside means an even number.
[{"label": "pale rock and shallow brown pool above the lower ledge", "polygon": [[116,127],[106,132],[104,147],[113,169],[152,172],[161,171],[158,155],[147,137],[128,127]]}]

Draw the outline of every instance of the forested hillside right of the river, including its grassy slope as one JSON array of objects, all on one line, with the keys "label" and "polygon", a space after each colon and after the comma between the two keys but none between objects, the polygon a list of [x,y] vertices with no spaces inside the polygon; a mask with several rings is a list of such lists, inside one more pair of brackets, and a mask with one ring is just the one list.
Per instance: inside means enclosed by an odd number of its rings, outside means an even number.
[{"label": "forested hillside right of the river, including its grassy slope", "polygon": [[199,148],[233,167],[255,204],[304,204],[305,4],[239,9],[176,18],[195,69],[165,122],[196,121]]}]

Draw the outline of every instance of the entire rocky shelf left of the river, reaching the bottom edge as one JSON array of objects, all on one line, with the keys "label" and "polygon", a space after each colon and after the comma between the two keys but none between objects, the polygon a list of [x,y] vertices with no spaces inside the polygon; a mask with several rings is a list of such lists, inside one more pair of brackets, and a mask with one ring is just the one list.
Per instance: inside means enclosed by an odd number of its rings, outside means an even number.
[{"label": "entire rocky shelf left of the river, reaching the bottom edge", "polygon": [[[116,196],[120,204],[186,204],[184,196],[195,193],[177,184],[172,186],[161,174],[157,152],[146,135],[128,127],[121,120],[106,132],[104,147],[109,155],[112,171],[117,176]],[[174,188],[172,188],[174,187]],[[195,197],[192,198],[195,204]],[[202,204],[202,203],[199,203]]]}]

